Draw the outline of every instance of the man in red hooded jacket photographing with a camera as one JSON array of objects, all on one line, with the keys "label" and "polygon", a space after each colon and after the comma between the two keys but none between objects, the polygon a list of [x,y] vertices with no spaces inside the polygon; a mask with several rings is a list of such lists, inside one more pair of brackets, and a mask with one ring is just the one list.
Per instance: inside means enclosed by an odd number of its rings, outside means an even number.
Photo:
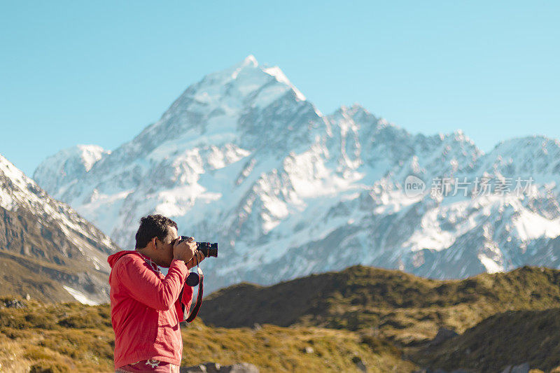
[{"label": "man in red hooded jacket photographing with a camera", "polygon": [[[177,223],[161,215],[141,218],[136,250],[109,256],[111,323],[116,372],[179,372],[179,323],[193,300],[188,269],[204,259],[193,237],[178,244]],[[160,267],[168,267],[164,276]],[[182,304],[181,304],[182,303]]]}]

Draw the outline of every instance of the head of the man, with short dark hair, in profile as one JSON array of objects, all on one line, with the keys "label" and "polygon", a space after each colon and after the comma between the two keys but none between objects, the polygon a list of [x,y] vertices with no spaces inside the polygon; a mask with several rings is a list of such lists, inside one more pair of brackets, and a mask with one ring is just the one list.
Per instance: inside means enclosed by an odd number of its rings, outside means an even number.
[{"label": "head of the man, with short dark hair, in profile", "polygon": [[173,260],[173,241],[179,237],[177,223],[162,215],[140,219],[136,249],[148,255],[157,265],[169,267]]}]

